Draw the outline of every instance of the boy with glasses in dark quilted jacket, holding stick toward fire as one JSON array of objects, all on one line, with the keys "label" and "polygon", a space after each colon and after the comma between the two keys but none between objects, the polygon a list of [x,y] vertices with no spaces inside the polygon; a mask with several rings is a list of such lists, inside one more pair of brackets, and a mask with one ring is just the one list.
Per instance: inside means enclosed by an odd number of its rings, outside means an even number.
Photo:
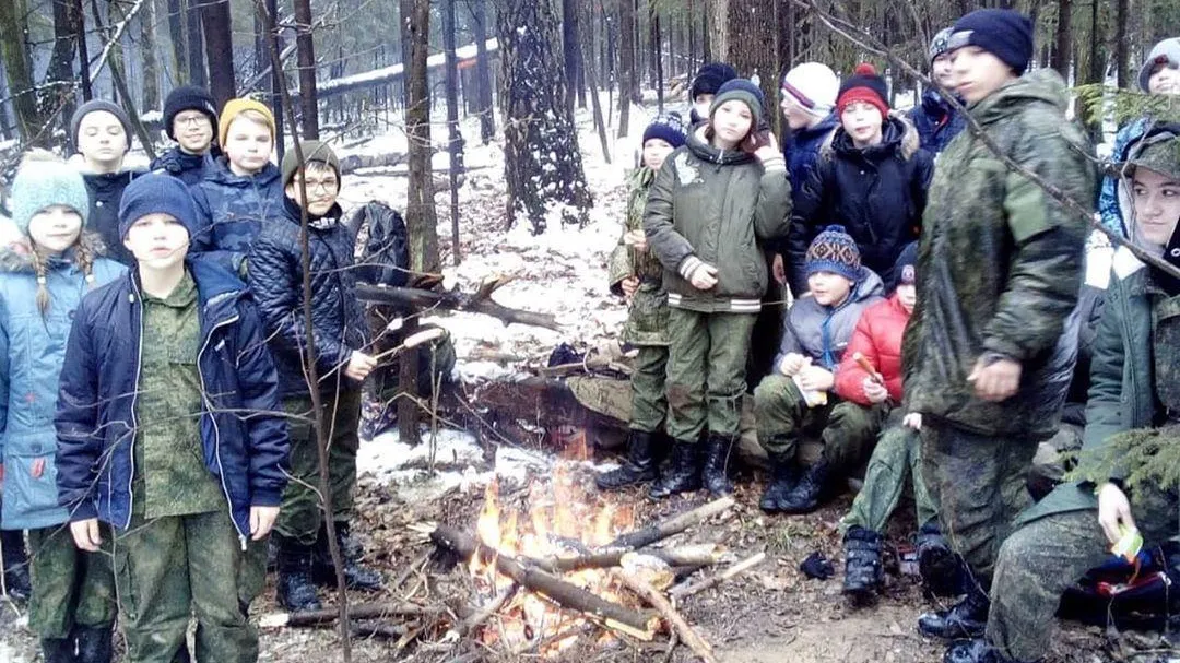
[{"label": "boy with glasses in dark quilted jacket, holding stick toward fire", "polygon": [[[320,481],[316,436],[312,422],[312,389],[319,389],[329,441],[329,480],[337,540],[348,538],[356,486],[358,425],[361,382],[376,366],[368,354],[363,309],[353,294],[355,237],[340,223],[336,204],[340,166],[336,155],[319,140],[300,144],[304,166],[294,150],[282,163],[282,214],[262,225],[249,254],[249,283],[262,308],[270,349],[278,365],[283,408],[291,416],[291,475],[283,494],[283,511],[275,525],[278,547],[278,602],[289,611],[320,608],[316,582],[334,583],[327,529],[316,488]],[[312,320],[303,326],[303,260],[301,223],[308,222]],[[308,346],[315,350],[319,383],[304,373]],[[346,558],[348,586],[379,589],[380,576]]]}]

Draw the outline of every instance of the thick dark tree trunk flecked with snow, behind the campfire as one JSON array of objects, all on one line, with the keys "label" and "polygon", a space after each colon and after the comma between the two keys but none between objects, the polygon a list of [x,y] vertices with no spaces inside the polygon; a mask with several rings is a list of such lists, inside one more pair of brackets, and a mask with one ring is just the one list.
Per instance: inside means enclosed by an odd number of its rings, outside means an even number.
[{"label": "thick dark tree trunk flecked with snow, behind the campfire", "polygon": [[509,223],[526,219],[535,232],[551,219],[584,224],[592,199],[557,71],[557,17],[536,0],[500,0],[498,8]]}]

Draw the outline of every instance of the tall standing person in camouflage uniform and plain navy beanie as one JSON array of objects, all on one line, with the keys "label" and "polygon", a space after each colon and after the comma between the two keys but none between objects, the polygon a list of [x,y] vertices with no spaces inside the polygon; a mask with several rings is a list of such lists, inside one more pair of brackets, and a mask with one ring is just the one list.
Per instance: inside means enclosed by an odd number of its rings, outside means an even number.
[{"label": "tall standing person in camouflage uniform and plain navy beanie", "polygon": [[[958,92],[1001,153],[1075,201],[1093,199],[1084,137],[1049,70],[1023,74],[1032,25],[1007,9],[959,19]],[[999,544],[1029,501],[1024,477],[1061,418],[1076,353],[1067,319],[1081,284],[1086,219],[1005,165],[975,131],[938,160],[918,249],[918,304],[903,343],[906,412],[922,415],[923,477],[968,595],[923,615],[931,637],[983,630]]]}]

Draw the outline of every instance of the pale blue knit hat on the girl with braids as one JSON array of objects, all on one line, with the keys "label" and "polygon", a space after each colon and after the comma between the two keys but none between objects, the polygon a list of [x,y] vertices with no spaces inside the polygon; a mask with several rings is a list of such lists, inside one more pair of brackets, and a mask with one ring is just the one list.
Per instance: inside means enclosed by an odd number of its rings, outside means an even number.
[{"label": "pale blue knit hat on the girl with braids", "polygon": [[52,205],[65,205],[81,216],[83,225],[90,215],[90,197],[81,175],[67,166],[55,155],[32,150],[25,155],[12,180],[8,208],[12,222],[22,235],[28,235],[28,223],[37,212]]}]

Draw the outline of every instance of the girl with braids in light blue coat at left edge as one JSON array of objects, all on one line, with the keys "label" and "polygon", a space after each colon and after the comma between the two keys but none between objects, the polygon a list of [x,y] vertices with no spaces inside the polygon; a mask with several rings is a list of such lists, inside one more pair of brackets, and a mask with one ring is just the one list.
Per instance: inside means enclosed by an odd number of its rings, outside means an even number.
[{"label": "girl with braids in light blue coat at left edge", "polygon": [[2,543],[5,549],[22,546],[20,532],[28,531],[28,625],[41,638],[45,659],[109,662],[113,576],[109,557],[77,550],[65,526],[53,415],[74,309],[87,291],[125,268],[101,257],[101,241],[83,231],[90,210],[86,184],[53,155],[33,151],[25,157],[9,208],[22,238],[0,249]]}]

